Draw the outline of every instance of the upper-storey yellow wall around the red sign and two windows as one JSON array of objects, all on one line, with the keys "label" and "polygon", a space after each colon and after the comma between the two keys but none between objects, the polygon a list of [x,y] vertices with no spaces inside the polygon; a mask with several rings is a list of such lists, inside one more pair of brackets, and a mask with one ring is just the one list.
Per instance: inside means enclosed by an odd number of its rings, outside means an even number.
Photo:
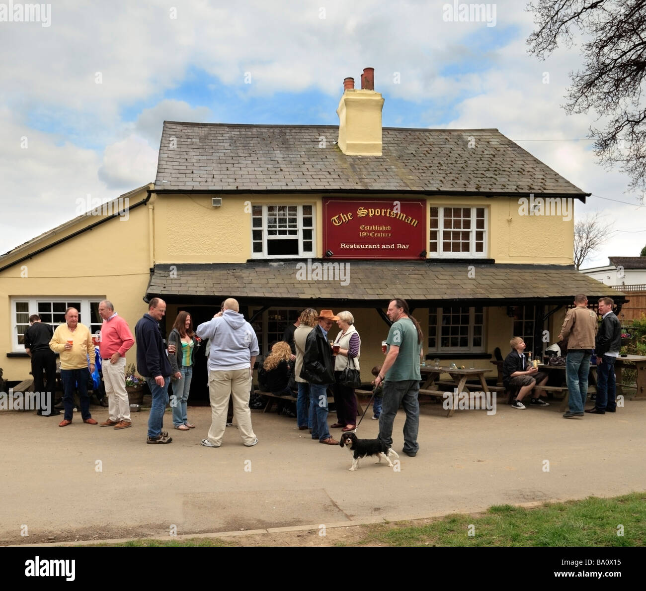
[{"label": "upper-storey yellow wall around the red sign and two windows", "polygon": [[[251,259],[251,205],[314,204],[316,256],[323,256],[322,196],[223,195],[222,206],[211,205],[213,195],[161,195],[154,203],[156,263],[244,263]],[[402,200],[401,195],[383,195]],[[360,195],[353,199],[362,199]],[[369,198],[366,198],[368,201]],[[417,196],[419,199],[419,196]],[[515,199],[497,197],[430,197],[426,212],[439,206],[480,206],[488,210],[488,258],[496,263],[572,264],[574,220],[557,216],[519,214]],[[426,241],[430,229],[426,220]],[[178,228],[187,228],[181,235]],[[428,250],[428,248],[427,248]],[[450,263],[448,257],[430,257]],[[477,259],[474,259],[477,261]]]}]

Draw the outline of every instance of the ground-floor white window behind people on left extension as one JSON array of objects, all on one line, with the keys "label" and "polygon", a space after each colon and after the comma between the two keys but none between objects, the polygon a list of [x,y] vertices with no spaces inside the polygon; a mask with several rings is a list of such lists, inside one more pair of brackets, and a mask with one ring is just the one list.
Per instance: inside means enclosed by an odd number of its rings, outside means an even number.
[{"label": "ground-floor white window behind people on left extension", "polygon": [[99,303],[105,297],[12,297],[12,349],[14,352],[25,350],[25,330],[29,326],[29,317],[38,314],[41,322],[52,325],[56,330],[65,322],[65,310],[76,308],[79,311],[79,322],[90,329],[92,334],[101,330],[103,320],[99,316]]}]

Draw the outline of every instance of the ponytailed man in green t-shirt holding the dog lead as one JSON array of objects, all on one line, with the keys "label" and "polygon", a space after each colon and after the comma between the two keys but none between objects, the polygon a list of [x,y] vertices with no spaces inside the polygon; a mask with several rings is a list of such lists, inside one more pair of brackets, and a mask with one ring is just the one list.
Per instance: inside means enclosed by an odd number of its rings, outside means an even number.
[{"label": "ponytailed man in green t-shirt holding the dog lead", "polygon": [[388,332],[388,352],[375,387],[384,383],[384,398],[379,416],[379,439],[388,447],[393,446],[393,422],[401,404],[406,412],[404,423],[404,449],[411,457],[417,455],[417,431],[419,431],[419,350],[422,345],[422,330],[408,312],[406,300],[399,297],[390,301],[388,319],[393,323]]}]

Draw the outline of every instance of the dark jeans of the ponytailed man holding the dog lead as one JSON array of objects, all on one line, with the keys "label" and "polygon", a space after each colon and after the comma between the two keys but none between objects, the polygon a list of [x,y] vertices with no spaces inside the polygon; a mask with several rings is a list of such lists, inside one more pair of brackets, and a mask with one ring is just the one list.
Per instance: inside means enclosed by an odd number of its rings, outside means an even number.
[{"label": "dark jeans of the ponytailed man holding the dog lead", "polygon": [[393,422],[401,404],[406,412],[404,423],[404,451],[417,452],[419,431],[419,381],[384,381],[384,396],[379,415],[379,439],[388,447],[393,446]]}]

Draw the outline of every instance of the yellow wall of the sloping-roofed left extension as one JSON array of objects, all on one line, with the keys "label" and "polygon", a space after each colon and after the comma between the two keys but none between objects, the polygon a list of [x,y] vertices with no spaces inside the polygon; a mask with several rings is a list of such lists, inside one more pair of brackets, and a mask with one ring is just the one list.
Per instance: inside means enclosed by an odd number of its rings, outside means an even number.
[{"label": "yellow wall of the sloping-roofed left extension", "polygon": [[[145,191],[130,206],[144,199]],[[25,380],[31,369],[28,358],[7,358],[12,352],[14,322],[12,296],[78,296],[109,299],[123,316],[134,334],[134,325],[148,306],[143,294],[149,282],[148,211],[140,206],[130,211],[127,221],[115,218],[91,231],[86,231],[32,259],[14,265],[0,273],[0,367],[6,380]],[[52,240],[74,233],[96,222],[99,217],[88,216],[27,252],[42,248]],[[0,266],[24,256],[20,252],[0,261]],[[21,268],[26,266],[26,277]],[[24,272],[23,272],[24,274]],[[89,318],[83,318],[88,325]],[[8,328],[11,327],[11,331]],[[136,347],[127,355],[127,363],[136,361]]]}]

